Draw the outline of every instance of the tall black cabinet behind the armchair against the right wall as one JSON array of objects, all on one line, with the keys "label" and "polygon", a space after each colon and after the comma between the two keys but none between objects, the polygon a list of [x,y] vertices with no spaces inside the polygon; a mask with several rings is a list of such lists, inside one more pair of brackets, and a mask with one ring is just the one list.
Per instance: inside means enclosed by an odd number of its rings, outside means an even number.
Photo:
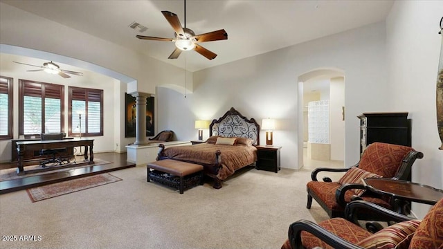
[{"label": "tall black cabinet behind the armchair against the right wall", "polygon": [[407,112],[362,113],[360,119],[360,156],[372,142],[411,146]]}]

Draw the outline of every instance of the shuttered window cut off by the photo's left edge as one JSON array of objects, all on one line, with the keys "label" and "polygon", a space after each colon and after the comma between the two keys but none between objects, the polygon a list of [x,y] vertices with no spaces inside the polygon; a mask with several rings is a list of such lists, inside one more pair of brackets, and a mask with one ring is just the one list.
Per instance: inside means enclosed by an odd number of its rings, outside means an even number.
[{"label": "shuttered window cut off by the photo's left edge", "polygon": [[12,78],[0,76],[0,139],[12,139]]}]

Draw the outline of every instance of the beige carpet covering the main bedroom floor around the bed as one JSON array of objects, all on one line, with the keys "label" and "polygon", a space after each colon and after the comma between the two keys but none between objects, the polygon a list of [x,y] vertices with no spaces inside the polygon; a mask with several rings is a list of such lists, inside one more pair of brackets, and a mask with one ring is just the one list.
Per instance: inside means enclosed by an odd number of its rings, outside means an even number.
[{"label": "beige carpet covering the main bedroom floor around the bed", "polygon": [[280,248],[293,221],[327,219],[306,209],[310,171],[250,169],[184,194],[147,183],[145,167],[112,174],[123,181],[36,203],[0,195],[1,234],[41,236],[0,248]]}]

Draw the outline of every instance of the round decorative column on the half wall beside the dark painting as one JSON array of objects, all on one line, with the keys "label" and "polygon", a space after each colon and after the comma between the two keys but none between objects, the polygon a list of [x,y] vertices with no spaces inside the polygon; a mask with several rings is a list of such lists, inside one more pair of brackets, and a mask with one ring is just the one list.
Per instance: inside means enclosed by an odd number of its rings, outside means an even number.
[{"label": "round decorative column on the half wall beside the dark painting", "polygon": [[136,141],[134,145],[145,145],[146,142],[146,98],[148,93],[131,93],[136,98]]}]

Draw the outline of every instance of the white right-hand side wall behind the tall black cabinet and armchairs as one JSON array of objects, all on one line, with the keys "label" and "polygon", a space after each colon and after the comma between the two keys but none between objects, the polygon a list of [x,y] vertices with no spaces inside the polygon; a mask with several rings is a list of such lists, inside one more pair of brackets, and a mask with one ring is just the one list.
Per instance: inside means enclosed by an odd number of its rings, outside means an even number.
[{"label": "white right-hand side wall behind the tall black cabinet and armchairs", "polygon": [[[443,151],[437,149],[435,85],[442,36],[443,1],[395,1],[386,21],[390,107],[408,111],[412,144],[424,158],[413,166],[412,180],[443,189]],[[426,205],[413,205],[424,216]]]}]

